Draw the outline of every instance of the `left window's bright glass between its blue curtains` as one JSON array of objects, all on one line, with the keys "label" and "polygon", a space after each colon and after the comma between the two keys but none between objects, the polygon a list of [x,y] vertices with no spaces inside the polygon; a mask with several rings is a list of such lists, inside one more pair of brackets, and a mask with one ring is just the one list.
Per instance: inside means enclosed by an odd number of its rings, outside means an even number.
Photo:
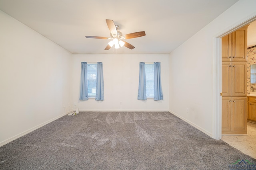
[{"label": "left window's bright glass between its blue curtains", "polygon": [[97,64],[87,64],[88,97],[96,96]]}]

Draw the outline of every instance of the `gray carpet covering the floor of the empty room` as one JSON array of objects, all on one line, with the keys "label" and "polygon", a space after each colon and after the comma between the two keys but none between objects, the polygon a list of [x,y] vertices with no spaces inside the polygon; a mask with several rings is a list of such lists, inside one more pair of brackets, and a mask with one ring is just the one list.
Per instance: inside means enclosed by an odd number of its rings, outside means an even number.
[{"label": "gray carpet covering the floor of the empty room", "polygon": [[80,112],[0,147],[1,170],[226,170],[241,164],[252,167],[256,160],[169,112]]}]

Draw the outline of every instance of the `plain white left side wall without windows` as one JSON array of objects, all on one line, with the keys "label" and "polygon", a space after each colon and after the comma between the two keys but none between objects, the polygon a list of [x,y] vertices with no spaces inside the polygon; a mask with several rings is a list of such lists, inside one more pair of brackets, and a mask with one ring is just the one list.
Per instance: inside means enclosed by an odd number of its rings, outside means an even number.
[{"label": "plain white left side wall without windows", "polygon": [[0,23],[1,146],[71,110],[72,54],[2,11]]}]

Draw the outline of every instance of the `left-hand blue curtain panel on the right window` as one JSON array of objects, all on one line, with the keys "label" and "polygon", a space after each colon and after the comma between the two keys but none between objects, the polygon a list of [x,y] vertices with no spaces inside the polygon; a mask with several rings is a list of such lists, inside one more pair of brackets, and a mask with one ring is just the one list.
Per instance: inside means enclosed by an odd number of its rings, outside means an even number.
[{"label": "left-hand blue curtain panel on the right window", "polygon": [[147,100],[145,63],[143,63],[143,62],[140,62],[138,100]]}]

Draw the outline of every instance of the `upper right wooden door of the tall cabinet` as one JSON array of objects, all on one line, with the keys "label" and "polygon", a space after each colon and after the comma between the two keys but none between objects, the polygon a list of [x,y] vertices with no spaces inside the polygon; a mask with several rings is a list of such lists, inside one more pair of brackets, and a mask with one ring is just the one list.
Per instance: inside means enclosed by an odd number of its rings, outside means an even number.
[{"label": "upper right wooden door of the tall cabinet", "polygon": [[247,27],[242,27],[231,33],[231,61],[246,62]]}]

